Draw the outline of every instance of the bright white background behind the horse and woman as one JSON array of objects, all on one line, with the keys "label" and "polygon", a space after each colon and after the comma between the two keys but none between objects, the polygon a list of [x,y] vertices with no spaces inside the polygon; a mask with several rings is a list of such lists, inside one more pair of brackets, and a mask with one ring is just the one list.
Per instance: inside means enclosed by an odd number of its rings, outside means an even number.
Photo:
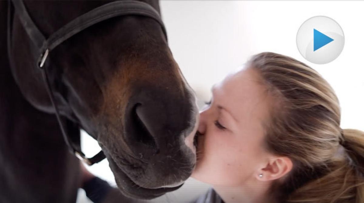
[{"label": "bright white background behind the horse and woman", "polygon": [[[361,1],[161,1],[169,45],[200,103],[209,100],[211,85],[259,52],[294,57],[316,69],[332,85],[342,109],[342,128],[364,131],[363,20]],[[344,31],[341,55],[324,65],[306,61],[298,52],[300,25],[313,16],[328,16]],[[87,155],[98,145],[82,136]],[[106,160],[89,168],[115,185]],[[189,179],[179,190],[156,202],[187,202],[203,193],[206,185]],[[80,190],[78,202],[86,202]]]}]

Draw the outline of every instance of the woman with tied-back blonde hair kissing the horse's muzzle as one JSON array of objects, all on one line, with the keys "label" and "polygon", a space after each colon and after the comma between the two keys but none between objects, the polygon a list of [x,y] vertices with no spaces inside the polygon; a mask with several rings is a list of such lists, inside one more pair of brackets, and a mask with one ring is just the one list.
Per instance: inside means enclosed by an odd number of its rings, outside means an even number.
[{"label": "woman with tied-back blonde hair kissing the horse's muzzle", "polygon": [[254,55],[200,116],[192,177],[213,189],[197,202],[364,202],[364,132],[340,128],[333,89],[306,64]]}]

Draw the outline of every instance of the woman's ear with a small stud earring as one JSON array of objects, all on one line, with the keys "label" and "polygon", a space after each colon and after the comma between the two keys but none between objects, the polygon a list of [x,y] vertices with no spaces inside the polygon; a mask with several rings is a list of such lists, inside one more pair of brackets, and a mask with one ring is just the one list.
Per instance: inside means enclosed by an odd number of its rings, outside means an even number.
[{"label": "woman's ear with a small stud earring", "polygon": [[264,168],[257,174],[257,179],[261,181],[277,180],[292,170],[293,163],[288,157],[272,157]]}]

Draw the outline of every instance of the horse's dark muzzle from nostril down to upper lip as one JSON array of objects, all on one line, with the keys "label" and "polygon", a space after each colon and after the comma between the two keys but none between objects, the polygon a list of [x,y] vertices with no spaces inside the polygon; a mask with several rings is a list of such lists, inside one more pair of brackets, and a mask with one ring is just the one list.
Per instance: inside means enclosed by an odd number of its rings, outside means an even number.
[{"label": "horse's dark muzzle from nostril down to upper lip", "polygon": [[132,92],[123,114],[122,139],[130,158],[141,161],[148,180],[139,174],[133,181],[145,188],[180,184],[196,163],[193,138],[199,114],[193,92],[150,86]]}]

